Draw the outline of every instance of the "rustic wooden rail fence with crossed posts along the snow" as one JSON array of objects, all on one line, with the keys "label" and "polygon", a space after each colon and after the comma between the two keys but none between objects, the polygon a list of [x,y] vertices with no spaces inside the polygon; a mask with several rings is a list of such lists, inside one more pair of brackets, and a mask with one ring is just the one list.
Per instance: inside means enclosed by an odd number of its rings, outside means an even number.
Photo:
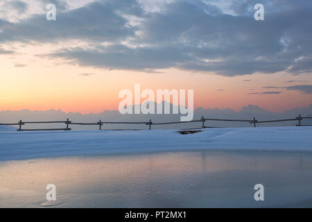
[{"label": "rustic wooden rail fence with crossed posts along the snow", "polygon": [[[257,126],[259,123],[275,123],[275,122],[283,122],[283,121],[297,121],[296,126],[312,126],[312,125],[302,125],[303,119],[312,119],[312,117],[301,117],[299,115],[298,117],[295,117],[294,119],[277,119],[277,120],[265,120],[265,121],[259,121],[255,118],[252,119],[210,119],[202,117],[198,120],[192,120],[192,121],[178,121],[178,122],[166,122],[166,123],[153,123],[153,121],[150,119],[148,122],[106,122],[106,121],[98,121],[97,123],[74,123],[69,121],[67,119],[66,121],[19,121],[18,123],[0,123],[0,125],[8,125],[8,126],[19,126],[17,128],[17,131],[39,131],[39,130],[71,130],[69,128],[69,125],[80,125],[80,126],[98,126],[99,130],[102,130],[102,126],[105,124],[145,124],[148,126],[148,129],[151,130],[152,126],[155,125],[169,125],[169,124],[180,124],[180,123],[195,123],[195,122],[201,122],[202,128],[218,128],[214,126],[207,126],[206,121],[232,121],[232,122],[246,122],[252,124],[254,127]],[[21,126],[24,126],[25,124],[31,124],[31,123],[64,123],[66,125],[66,128],[43,128],[43,129],[22,129]],[[206,125],[205,125],[206,123]],[[192,128],[196,129],[196,128]],[[126,129],[125,129],[126,130]],[[191,129],[185,129],[185,130],[191,130]]]}]

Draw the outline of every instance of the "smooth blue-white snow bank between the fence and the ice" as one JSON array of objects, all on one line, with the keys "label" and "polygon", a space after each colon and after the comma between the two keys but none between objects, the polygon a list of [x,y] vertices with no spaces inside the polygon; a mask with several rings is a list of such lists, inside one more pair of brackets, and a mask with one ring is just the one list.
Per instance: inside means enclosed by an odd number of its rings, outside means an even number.
[{"label": "smooth blue-white snow bank between the fence and the ice", "polygon": [[161,151],[245,150],[312,152],[312,127],[177,130],[0,131],[0,160]]}]

